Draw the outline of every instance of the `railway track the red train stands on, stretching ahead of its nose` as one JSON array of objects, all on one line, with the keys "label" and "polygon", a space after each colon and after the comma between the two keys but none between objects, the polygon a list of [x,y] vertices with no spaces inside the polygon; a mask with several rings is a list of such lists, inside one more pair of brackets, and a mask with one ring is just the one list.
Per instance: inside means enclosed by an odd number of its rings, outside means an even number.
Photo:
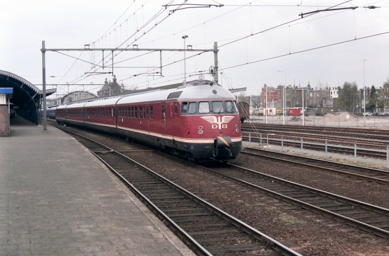
[{"label": "railway track the red train stands on, stretching ahead of its nose", "polygon": [[386,208],[292,183],[237,165],[204,168],[278,200],[298,205],[379,237],[389,238],[389,210]]}]

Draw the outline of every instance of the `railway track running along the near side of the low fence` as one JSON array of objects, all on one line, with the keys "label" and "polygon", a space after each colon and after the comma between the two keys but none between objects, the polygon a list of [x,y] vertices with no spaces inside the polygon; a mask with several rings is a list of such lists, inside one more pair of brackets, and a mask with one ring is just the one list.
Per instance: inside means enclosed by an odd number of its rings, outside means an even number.
[{"label": "railway track running along the near side of the low fence", "polygon": [[274,152],[255,147],[245,147],[245,149],[246,150],[241,151],[241,154],[251,154],[259,157],[273,159],[276,161],[283,161],[297,165],[315,167],[325,171],[331,171],[341,175],[346,175],[348,177],[353,177],[359,180],[389,185],[389,171],[335,163],[317,158],[295,156],[291,154]]}]

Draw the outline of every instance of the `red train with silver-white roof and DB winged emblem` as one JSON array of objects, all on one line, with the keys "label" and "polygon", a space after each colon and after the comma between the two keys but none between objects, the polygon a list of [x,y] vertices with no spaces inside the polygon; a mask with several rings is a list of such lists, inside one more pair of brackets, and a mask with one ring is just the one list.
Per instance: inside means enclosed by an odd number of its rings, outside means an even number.
[{"label": "red train with silver-white roof and DB winged emblem", "polygon": [[194,161],[235,159],[242,146],[234,96],[206,80],[61,105],[56,120],[126,136]]}]

